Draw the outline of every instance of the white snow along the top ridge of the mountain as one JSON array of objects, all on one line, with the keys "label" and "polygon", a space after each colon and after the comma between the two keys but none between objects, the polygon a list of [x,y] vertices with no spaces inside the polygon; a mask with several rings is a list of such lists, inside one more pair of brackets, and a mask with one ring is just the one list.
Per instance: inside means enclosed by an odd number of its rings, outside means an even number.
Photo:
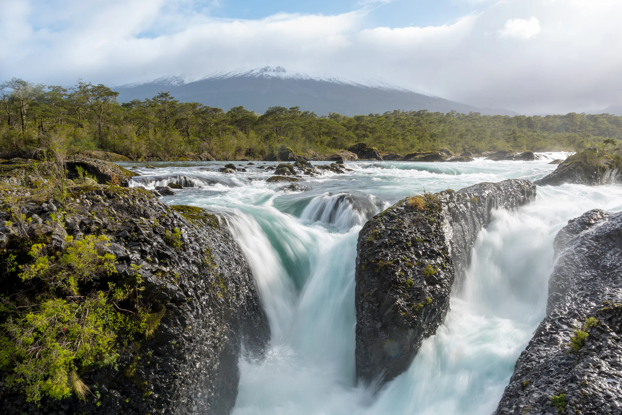
[{"label": "white snow along the top ridge of the mountain", "polygon": [[236,77],[266,77],[266,78],[281,78],[283,80],[313,80],[318,82],[330,82],[338,83],[341,85],[352,85],[360,88],[374,88],[386,91],[405,91],[415,92],[422,95],[431,96],[432,98],[439,98],[435,95],[420,90],[412,90],[407,88],[401,88],[400,86],[391,85],[379,80],[363,80],[362,82],[356,82],[341,77],[332,77],[330,75],[324,75],[320,73],[302,73],[292,72],[288,73],[284,67],[277,66],[272,68],[269,66],[262,68],[254,68],[251,70],[235,69],[231,71],[218,71],[210,73],[204,76],[194,75],[167,75],[165,77],[152,78],[148,80],[141,80],[137,82],[126,83],[124,85],[116,85],[115,88],[133,88],[134,86],[141,86],[149,83],[155,83],[159,85],[181,86],[191,82],[197,82],[202,80],[222,80],[226,78]]}]

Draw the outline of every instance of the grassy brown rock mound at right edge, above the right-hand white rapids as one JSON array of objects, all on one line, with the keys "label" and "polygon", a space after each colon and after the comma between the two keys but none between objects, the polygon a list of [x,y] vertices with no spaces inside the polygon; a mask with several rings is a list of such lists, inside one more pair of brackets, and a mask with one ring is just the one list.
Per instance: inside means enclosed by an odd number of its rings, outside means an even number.
[{"label": "grassy brown rock mound at right edge, above the right-hand white rapids", "polygon": [[565,159],[557,169],[539,180],[537,184],[553,186],[564,183],[589,186],[607,184],[616,180],[621,164],[620,156],[587,149]]}]

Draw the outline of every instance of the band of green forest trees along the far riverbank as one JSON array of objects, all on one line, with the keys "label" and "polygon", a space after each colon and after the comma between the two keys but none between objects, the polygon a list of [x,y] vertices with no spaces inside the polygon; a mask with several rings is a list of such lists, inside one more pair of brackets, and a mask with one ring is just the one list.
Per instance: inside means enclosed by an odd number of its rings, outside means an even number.
[{"label": "band of green forest trees along the far riverbank", "polygon": [[168,92],[119,103],[108,86],[65,88],[12,78],[0,85],[0,157],[32,156],[62,146],[67,154],[103,150],[134,160],[177,159],[209,152],[218,159],[259,159],[291,147],[297,154],[328,153],[365,142],[381,152],[448,148],[582,151],[622,138],[622,116],[577,114],[488,116],[394,110],[384,114],[318,116],[273,106],[257,114],[182,103]]}]

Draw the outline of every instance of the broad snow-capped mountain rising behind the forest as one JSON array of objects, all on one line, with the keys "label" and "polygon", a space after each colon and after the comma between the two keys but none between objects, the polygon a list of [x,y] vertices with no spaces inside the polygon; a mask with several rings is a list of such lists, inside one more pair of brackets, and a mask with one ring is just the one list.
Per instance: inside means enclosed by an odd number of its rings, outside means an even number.
[{"label": "broad snow-capped mountain rising behind the forest", "polygon": [[355,82],[317,73],[287,72],[280,66],[215,72],[203,76],[169,75],[113,89],[119,91],[120,102],[151,98],[160,91],[169,91],[182,102],[200,102],[225,111],[234,106],[243,106],[247,110],[263,113],[271,106],[299,106],[301,110],[322,115],[384,113],[392,110],[443,113],[454,110],[461,113],[473,111],[516,115],[513,111],[476,108],[377,80]]}]

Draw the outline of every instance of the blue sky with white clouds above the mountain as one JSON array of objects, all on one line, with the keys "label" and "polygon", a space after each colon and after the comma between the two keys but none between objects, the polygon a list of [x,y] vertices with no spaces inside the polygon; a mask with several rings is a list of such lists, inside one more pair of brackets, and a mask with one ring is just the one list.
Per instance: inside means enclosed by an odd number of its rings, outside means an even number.
[{"label": "blue sky with white clouds above the mountain", "polygon": [[282,66],[519,113],[622,104],[622,0],[0,0],[0,80]]}]

